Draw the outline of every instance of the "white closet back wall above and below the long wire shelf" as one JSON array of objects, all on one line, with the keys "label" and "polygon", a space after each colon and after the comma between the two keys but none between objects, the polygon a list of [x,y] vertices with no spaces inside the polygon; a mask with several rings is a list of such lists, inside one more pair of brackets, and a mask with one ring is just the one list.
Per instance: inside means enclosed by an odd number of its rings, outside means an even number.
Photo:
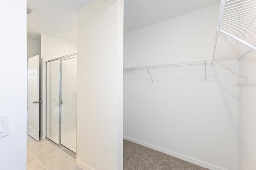
[{"label": "white closet back wall above and below the long wire shelf", "polygon": [[[211,59],[219,5],[124,34],[124,67]],[[227,61],[238,69],[238,61]],[[238,77],[214,64],[124,71],[124,138],[238,169]]]}]

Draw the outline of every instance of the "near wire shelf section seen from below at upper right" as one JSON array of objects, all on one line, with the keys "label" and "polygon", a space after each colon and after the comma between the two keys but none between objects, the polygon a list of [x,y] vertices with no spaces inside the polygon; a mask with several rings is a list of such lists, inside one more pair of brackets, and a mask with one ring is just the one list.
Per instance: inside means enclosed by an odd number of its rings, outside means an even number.
[{"label": "near wire shelf section seen from below at upper right", "polygon": [[221,0],[212,61],[244,57],[255,45],[256,0]]}]

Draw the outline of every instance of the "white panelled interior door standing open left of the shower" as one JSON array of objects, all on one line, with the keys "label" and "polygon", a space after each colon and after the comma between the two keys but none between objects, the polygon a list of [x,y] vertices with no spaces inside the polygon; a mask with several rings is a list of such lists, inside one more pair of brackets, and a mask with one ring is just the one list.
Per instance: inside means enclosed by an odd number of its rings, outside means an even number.
[{"label": "white panelled interior door standing open left of the shower", "polygon": [[28,58],[28,134],[35,140],[39,140],[39,62],[36,55]]}]

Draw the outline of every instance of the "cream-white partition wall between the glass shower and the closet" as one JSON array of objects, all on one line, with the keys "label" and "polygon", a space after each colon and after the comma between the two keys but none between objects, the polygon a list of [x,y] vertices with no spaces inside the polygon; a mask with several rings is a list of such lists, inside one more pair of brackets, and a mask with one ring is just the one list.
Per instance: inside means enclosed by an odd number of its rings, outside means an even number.
[{"label": "cream-white partition wall between the glass shower and the closet", "polygon": [[123,3],[78,11],[76,162],[84,168],[123,168]]}]

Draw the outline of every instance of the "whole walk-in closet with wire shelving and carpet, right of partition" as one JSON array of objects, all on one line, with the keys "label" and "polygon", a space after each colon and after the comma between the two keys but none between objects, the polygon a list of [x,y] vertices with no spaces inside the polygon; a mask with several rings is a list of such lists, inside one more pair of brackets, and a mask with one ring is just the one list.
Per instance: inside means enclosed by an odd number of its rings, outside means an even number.
[{"label": "whole walk-in closet with wire shelving and carpet, right of partition", "polygon": [[125,1],[124,16],[124,169],[246,169],[256,1]]}]

